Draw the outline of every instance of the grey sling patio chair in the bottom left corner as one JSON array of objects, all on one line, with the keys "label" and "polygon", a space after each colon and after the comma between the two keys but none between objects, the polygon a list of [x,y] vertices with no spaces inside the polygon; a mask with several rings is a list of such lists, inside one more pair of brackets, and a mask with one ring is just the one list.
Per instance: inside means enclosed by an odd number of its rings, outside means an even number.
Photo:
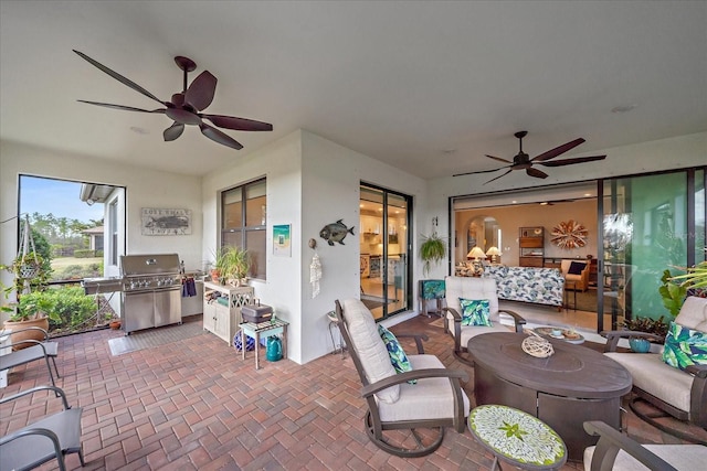
[{"label": "grey sling patio chair in the bottom left corner", "polygon": [[56,397],[62,398],[64,410],[0,438],[0,469],[30,470],[55,458],[59,462],[59,469],[63,471],[66,469],[64,457],[68,453],[78,453],[81,465],[86,465],[81,450],[81,414],[83,409],[81,407],[72,408],[61,388],[56,386],[33,387],[10,397],[3,397],[0,399],[0,405],[44,389],[53,390]]}]

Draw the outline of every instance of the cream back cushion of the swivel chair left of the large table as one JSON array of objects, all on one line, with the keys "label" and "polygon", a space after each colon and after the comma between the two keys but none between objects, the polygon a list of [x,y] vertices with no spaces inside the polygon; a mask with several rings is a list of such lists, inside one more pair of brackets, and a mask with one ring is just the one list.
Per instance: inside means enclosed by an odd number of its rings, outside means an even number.
[{"label": "cream back cushion of the swivel chair left of the large table", "polygon": [[[378,327],[366,304],[358,299],[344,301],[344,312],[351,342],[358,352],[369,383],[377,383],[395,374],[388,349],[378,334]],[[400,397],[400,385],[390,386],[376,394],[383,403],[394,403]]]}]

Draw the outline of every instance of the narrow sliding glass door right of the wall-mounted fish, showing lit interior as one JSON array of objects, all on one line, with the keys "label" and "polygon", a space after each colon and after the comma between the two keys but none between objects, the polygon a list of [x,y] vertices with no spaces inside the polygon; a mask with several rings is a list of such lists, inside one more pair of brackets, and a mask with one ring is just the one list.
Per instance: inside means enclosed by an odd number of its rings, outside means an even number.
[{"label": "narrow sliding glass door right of the wall-mounted fish, showing lit interior", "polygon": [[377,320],[409,309],[410,196],[361,184],[361,300]]}]

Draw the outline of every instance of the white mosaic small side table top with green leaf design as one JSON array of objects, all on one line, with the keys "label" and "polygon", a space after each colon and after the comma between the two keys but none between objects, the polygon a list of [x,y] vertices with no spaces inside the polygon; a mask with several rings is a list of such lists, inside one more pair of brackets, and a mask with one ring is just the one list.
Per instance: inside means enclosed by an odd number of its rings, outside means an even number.
[{"label": "white mosaic small side table top with green leaf design", "polygon": [[478,406],[468,415],[472,436],[495,456],[524,469],[560,468],[567,447],[542,420],[508,406]]}]

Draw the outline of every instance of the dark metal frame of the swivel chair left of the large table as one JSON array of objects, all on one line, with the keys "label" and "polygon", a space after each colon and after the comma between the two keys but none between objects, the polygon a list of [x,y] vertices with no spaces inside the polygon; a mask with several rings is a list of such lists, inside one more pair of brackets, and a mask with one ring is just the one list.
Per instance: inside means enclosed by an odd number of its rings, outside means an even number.
[{"label": "dark metal frame of the swivel chair left of the large table", "polygon": [[[363,365],[359,357],[359,353],[356,350],[356,345],[351,342],[349,335],[348,324],[346,322],[346,313],[344,312],[340,302],[336,301],[336,315],[337,325],[341,332],[348,351],[354,360],[354,365],[359,374],[361,384],[361,397],[366,399],[368,410],[363,424],[366,426],[366,433],[368,438],[381,450],[384,450],[391,454],[401,458],[418,458],[434,452],[442,440],[444,439],[444,430],[446,427],[453,427],[457,432],[462,433],[465,429],[465,411],[464,398],[462,394],[461,382],[468,381],[468,374],[462,370],[447,370],[447,368],[430,368],[430,370],[416,370],[407,373],[399,373],[393,376],[389,376],[386,379],[381,379],[373,384],[370,384],[366,377]],[[412,338],[414,339],[419,354],[424,354],[423,340],[428,340],[424,334],[395,334],[398,339]],[[421,420],[400,420],[393,422],[383,422],[380,419],[380,413],[378,402],[374,394],[386,389],[390,386],[405,383],[410,379],[422,379],[430,377],[445,377],[450,379],[452,390],[454,394],[454,417],[439,418],[439,419],[421,419]],[[435,430],[435,438],[431,443],[423,443],[421,436],[415,429],[432,429]],[[410,430],[416,447],[404,447],[402,443],[393,443],[392,440],[384,436],[387,430]]]}]

